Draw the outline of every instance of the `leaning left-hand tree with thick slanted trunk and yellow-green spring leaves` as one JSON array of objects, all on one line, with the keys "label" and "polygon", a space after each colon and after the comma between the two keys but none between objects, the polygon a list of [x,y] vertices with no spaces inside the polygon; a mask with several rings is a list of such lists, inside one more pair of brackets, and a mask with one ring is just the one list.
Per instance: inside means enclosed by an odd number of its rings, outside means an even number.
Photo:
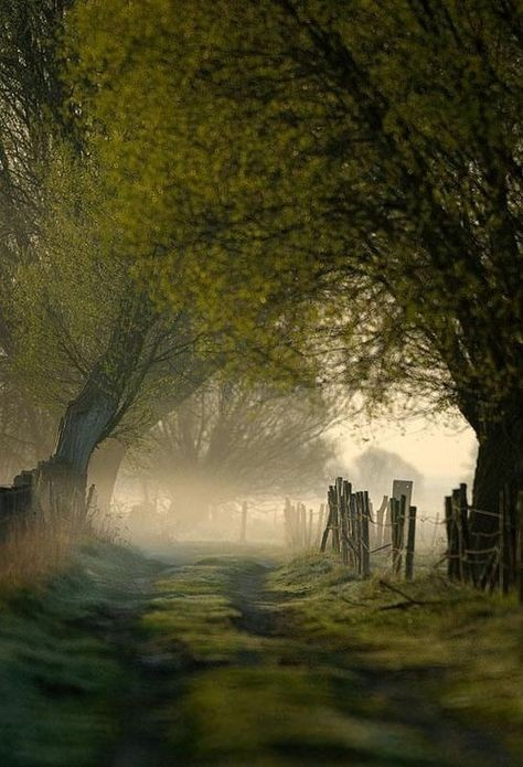
[{"label": "leaning left-hand tree with thick slanted trunk and yellow-green spring leaves", "polygon": [[214,362],[198,354],[190,312],[156,307],[132,280],[117,230],[113,243],[99,241],[105,191],[96,168],[55,155],[41,192],[34,257],[15,271],[11,335],[20,377],[63,414],[41,471],[65,471],[83,486],[97,445],[111,435],[131,440],[154,423],[157,400],[179,402]]}]

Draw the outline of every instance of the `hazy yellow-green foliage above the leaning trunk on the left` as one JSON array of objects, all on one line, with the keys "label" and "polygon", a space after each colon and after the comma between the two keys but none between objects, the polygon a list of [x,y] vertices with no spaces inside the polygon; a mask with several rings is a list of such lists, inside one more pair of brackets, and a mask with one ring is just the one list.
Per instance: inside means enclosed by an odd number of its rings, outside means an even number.
[{"label": "hazy yellow-green foliage above the leaning trunk on the left", "polygon": [[124,298],[137,290],[118,248],[100,243],[105,195],[96,169],[63,148],[41,194],[38,244],[15,271],[10,322],[20,377],[38,402],[62,412],[110,345]]}]

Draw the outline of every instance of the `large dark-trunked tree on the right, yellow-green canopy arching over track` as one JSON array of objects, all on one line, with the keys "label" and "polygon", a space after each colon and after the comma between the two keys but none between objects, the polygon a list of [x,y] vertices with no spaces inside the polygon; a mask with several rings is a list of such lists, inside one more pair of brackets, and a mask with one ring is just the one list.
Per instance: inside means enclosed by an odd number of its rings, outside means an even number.
[{"label": "large dark-trunked tree on the right, yellow-green canopy arching over track", "polygon": [[307,319],[372,395],[409,382],[458,407],[474,505],[508,486],[512,513],[522,33],[511,0],[95,1],[72,28],[115,216],[139,213],[135,253],[161,245],[139,259],[153,289],[175,303],[183,275],[210,322],[260,343]]}]

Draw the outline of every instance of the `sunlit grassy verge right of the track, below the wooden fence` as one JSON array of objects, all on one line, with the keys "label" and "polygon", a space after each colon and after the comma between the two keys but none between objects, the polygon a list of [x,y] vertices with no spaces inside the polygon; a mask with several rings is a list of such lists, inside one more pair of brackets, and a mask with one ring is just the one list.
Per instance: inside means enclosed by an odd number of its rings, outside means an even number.
[{"label": "sunlit grassy verge right of the track, below the wooden fence", "polygon": [[523,610],[515,599],[436,575],[361,583],[316,556],[280,568],[271,587],[287,600],[297,631],[377,678],[412,679],[444,715],[491,734],[521,763]]}]

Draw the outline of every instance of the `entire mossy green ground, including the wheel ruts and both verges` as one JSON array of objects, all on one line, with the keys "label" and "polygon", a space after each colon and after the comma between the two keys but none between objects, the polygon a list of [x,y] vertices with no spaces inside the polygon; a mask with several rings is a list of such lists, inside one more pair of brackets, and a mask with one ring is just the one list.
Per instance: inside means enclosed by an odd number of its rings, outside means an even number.
[{"label": "entire mossy green ground, including the wheel ruts and both verges", "polygon": [[519,765],[522,620],[316,555],[84,548],[3,600],[0,764]]}]

